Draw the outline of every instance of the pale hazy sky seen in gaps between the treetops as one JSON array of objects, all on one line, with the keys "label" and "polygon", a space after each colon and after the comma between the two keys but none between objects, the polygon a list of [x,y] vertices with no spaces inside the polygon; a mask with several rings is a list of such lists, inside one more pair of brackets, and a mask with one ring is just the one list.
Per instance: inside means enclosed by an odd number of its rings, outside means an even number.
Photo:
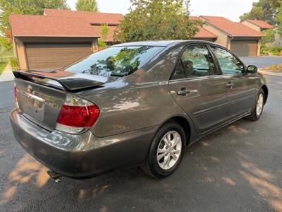
[{"label": "pale hazy sky seen in gaps between the treetops", "polygon": [[[75,10],[76,0],[67,0]],[[252,2],[258,0],[190,0],[192,16],[224,16],[239,21],[239,16],[250,11]],[[99,11],[104,13],[128,13],[130,0],[97,0]]]}]

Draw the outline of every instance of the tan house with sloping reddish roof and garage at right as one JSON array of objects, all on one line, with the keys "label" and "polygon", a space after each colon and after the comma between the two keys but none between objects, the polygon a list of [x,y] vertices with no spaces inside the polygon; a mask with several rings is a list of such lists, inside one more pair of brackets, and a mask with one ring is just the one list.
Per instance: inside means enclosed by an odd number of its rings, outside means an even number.
[{"label": "tan house with sloping reddish roof and garage at right", "polygon": [[217,35],[216,43],[235,52],[239,57],[258,56],[263,33],[217,16],[200,16],[204,28]]}]

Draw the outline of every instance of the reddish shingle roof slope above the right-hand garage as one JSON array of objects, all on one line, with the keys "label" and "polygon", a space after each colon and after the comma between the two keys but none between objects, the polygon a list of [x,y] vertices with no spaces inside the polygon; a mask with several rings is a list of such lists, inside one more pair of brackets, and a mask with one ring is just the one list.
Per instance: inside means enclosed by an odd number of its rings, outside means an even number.
[{"label": "reddish shingle roof slope above the right-hand garage", "polygon": [[207,23],[214,25],[223,32],[231,35],[233,37],[263,37],[264,34],[253,30],[252,28],[243,25],[243,23],[233,22],[227,18],[217,17],[217,16],[200,16]]}]

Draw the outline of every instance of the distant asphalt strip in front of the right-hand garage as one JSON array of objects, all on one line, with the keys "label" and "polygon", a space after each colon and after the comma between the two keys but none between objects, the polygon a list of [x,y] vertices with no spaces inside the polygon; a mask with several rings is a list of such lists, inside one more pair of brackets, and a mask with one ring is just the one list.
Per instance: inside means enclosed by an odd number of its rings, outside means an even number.
[{"label": "distant asphalt strip in front of the right-hand garage", "polygon": [[274,64],[282,64],[282,56],[280,57],[240,57],[240,59],[248,65],[255,65],[257,68],[267,68]]}]

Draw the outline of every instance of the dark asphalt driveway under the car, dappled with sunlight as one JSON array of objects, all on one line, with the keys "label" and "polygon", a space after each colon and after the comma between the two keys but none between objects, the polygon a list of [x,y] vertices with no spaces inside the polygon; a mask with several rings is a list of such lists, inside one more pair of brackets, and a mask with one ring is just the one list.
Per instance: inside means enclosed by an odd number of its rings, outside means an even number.
[{"label": "dark asphalt driveway under the car, dappled with sunlight", "polygon": [[13,138],[13,83],[0,83],[0,211],[282,211],[282,77],[267,80],[261,119],[241,119],[186,148],[171,177],[135,167],[59,184]]}]

